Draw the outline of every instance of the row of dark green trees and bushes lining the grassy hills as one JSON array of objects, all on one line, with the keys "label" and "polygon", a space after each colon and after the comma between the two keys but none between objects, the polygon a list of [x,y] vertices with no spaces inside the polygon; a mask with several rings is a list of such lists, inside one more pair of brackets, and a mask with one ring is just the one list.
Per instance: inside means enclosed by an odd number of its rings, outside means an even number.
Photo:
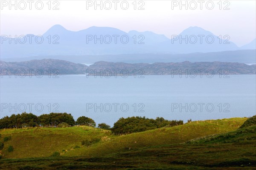
[{"label": "row of dark green trees and bushes lining the grassy hills", "polygon": [[[136,133],[146,130],[157,129],[160,127],[172,127],[183,124],[183,121],[165,120],[157,117],[156,119],[144,117],[119,118],[111,128],[108,124],[98,124],[99,128],[110,129],[114,134]],[[10,117],[5,116],[0,119],[0,129],[3,128],[22,128],[22,127],[70,127],[74,125],[83,125],[96,127],[93,119],[81,116],[76,121],[68,113],[49,113],[40,116],[32,113],[13,114]]]}]

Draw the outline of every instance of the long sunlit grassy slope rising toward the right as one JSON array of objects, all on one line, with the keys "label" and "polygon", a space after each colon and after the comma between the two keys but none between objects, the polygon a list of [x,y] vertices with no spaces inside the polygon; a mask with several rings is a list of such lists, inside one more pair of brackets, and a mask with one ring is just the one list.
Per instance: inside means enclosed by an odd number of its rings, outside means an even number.
[{"label": "long sunlit grassy slope rising toward the right", "polygon": [[136,150],[163,144],[180,144],[193,138],[226,133],[239,128],[247,118],[193,121],[180,126],[148,130],[119,137],[108,138],[89,147],[66,152],[64,156],[102,156],[127,150]]}]

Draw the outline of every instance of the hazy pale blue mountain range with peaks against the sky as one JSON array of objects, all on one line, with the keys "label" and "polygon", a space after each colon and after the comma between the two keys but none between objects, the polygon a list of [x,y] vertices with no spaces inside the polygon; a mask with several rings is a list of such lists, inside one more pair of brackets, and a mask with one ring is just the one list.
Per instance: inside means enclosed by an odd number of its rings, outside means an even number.
[{"label": "hazy pale blue mountain range with peaks against the sky", "polygon": [[49,55],[188,54],[256,49],[256,40],[239,48],[229,41],[228,35],[213,35],[200,27],[189,27],[169,39],[154,32],[126,33],[116,28],[96,26],[73,32],[61,25],[55,25],[42,35],[43,39],[35,37],[36,35],[17,36],[16,39],[9,41],[8,36],[1,35],[1,58]]}]

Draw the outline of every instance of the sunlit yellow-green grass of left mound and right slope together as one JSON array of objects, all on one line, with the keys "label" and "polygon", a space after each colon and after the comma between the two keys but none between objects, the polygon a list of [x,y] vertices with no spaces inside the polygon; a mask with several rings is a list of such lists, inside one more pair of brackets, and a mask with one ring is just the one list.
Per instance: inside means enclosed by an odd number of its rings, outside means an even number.
[{"label": "sunlit yellow-green grass of left mound and right slope together", "polygon": [[[61,156],[103,156],[157,145],[175,145],[205,135],[230,132],[240,127],[246,119],[193,121],[122,136],[113,136],[108,130],[90,127],[1,130],[1,140],[6,136],[12,137],[4,142],[2,154],[4,158],[36,158],[58,151]],[[87,147],[81,146],[81,141],[88,139],[100,141]],[[13,152],[8,152],[9,145],[14,147]]]}]

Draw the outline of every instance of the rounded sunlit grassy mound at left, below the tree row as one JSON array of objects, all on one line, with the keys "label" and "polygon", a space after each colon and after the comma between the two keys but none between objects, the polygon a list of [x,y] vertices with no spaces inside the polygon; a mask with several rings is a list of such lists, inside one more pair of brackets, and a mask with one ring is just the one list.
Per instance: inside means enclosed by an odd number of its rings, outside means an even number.
[{"label": "rounded sunlit grassy mound at left, below the tree row", "polygon": [[[81,146],[82,140],[101,139],[110,133],[91,127],[6,129],[1,130],[0,140],[11,136],[11,140],[4,142],[5,158],[35,158],[50,156],[55,151],[68,152]],[[13,152],[8,152],[9,145]]]}]

